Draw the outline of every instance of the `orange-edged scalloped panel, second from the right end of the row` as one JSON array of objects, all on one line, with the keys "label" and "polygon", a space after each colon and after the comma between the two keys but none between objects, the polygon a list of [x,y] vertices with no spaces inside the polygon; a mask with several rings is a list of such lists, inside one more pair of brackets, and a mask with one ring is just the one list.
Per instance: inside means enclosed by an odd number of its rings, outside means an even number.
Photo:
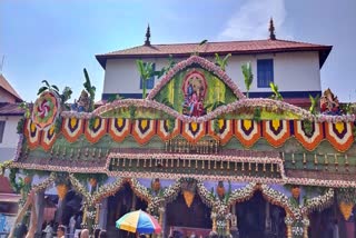
[{"label": "orange-edged scalloped panel, second from the right end of the row", "polygon": [[323,125],[318,122],[310,122],[310,131],[306,130],[305,123],[300,120],[294,121],[294,135],[297,140],[307,150],[314,150],[324,139]]}]

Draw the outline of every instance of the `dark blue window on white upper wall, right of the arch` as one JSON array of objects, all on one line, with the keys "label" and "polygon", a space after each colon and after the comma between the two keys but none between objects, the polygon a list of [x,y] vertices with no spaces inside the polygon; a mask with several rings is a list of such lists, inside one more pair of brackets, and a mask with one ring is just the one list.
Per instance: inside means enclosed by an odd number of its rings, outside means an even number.
[{"label": "dark blue window on white upper wall, right of the arch", "polygon": [[269,88],[269,82],[274,81],[274,60],[257,60],[257,87]]}]

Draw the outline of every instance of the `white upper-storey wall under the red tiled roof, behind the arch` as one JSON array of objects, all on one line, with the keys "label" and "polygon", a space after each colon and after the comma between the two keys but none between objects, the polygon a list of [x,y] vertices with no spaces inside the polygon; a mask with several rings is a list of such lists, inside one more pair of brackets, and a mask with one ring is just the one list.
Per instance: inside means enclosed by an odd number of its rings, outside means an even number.
[{"label": "white upper-storey wall under the red tiled roof, behind the arch", "polygon": [[[279,91],[319,91],[320,72],[318,52],[286,52],[274,54],[234,56],[228,61],[226,72],[246,91],[241,65],[251,61],[254,81],[250,91],[270,91],[269,88],[257,88],[257,60],[274,59],[274,81]],[[176,59],[177,60],[177,59]],[[214,61],[212,58],[209,60]],[[168,63],[167,59],[145,59],[155,62],[156,70]],[[157,83],[158,80],[155,80]],[[107,61],[103,93],[141,93],[136,59],[109,59]]]}]

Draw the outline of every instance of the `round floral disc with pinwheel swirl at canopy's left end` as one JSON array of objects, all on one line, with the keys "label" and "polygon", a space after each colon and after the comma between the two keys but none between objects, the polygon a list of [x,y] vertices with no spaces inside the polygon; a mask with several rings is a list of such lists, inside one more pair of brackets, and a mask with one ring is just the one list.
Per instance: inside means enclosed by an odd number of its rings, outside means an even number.
[{"label": "round floral disc with pinwheel swirl at canopy's left end", "polygon": [[44,91],[36,100],[32,110],[32,121],[39,130],[55,123],[60,110],[60,99],[52,91]]}]

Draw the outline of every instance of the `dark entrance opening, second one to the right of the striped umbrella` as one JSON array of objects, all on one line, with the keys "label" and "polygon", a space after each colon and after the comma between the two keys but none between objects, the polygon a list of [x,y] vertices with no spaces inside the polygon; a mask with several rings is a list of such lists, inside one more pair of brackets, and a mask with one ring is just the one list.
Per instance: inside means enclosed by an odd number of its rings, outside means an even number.
[{"label": "dark entrance opening, second one to the right of the striped umbrella", "polygon": [[[266,222],[266,205],[260,191],[256,191],[248,201],[236,205],[237,226],[240,238],[285,238],[286,211],[269,204],[270,226]],[[267,225],[267,226],[266,226]]]}]

